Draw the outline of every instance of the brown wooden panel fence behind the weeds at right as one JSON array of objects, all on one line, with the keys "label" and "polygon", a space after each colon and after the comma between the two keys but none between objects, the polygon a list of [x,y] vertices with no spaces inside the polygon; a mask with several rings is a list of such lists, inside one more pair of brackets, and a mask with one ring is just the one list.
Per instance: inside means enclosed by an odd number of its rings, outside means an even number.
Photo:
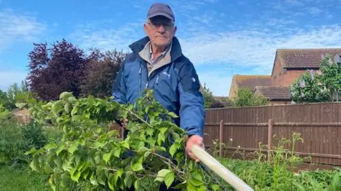
[{"label": "brown wooden panel fence behind the weeds at right", "polygon": [[224,143],[226,148],[222,151],[220,147],[221,156],[231,156],[237,150],[256,151],[259,142],[272,148],[278,144],[274,134],[291,139],[293,132],[301,133],[303,138],[303,143],[296,142],[296,154],[311,156],[310,162],[314,164],[341,166],[341,103],[222,108],[206,112],[205,145],[210,147],[215,140]]}]

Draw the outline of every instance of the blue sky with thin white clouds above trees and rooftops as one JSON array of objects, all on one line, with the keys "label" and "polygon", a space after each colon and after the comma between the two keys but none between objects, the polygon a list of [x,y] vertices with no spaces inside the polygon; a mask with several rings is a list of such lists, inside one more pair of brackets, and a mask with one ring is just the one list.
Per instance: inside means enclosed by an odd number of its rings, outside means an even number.
[{"label": "blue sky with thin white clouds above trees and rooftops", "polygon": [[[33,42],[128,50],[156,1],[0,0],[0,88],[27,75]],[[341,0],[158,1],[171,5],[185,56],[215,96],[234,74],[271,74],[278,48],[341,47]]]}]

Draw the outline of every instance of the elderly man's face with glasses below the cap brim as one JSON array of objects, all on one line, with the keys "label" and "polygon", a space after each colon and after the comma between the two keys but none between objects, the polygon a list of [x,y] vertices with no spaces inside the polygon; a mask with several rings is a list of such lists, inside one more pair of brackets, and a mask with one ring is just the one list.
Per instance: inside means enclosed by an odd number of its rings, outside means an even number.
[{"label": "elderly man's face with glasses below the cap brim", "polygon": [[153,45],[166,47],[171,43],[176,32],[176,27],[170,19],[164,16],[155,16],[148,19],[147,23],[144,24],[144,30]]}]

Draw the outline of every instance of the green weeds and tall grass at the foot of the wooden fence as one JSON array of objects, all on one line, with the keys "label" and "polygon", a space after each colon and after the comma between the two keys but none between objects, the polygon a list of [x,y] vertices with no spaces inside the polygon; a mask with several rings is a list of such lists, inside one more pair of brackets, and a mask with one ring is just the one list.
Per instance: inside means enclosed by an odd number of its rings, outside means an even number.
[{"label": "green weeds and tall grass at the foot of the wooden fence", "polygon": [[[303,143],[301,134],[297,132],[294,132],[290,139],[274,135],[276,145],[269,150],[270,158],[266,155],[268,146],[259,142],[259,149],[248,154],[238,146],[232,156],[239,154],[241,160],[222,158],[221,161],[254,190],[341,190],[341,169],[339,168],[333,171],[295,172],[297,166],[311,159],[310,156],[301,157],[295,154],[298,141]],[[224,147],[224,149],[227,148]],[[254,154],[256,158],[246,161],[251,154]]]}]

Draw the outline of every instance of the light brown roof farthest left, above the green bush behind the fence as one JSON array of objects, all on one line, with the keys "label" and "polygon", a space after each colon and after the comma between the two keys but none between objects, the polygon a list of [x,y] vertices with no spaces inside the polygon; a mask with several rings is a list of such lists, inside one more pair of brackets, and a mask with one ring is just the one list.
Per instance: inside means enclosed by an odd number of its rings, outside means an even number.
[{"label": "light brown roof farthest left, above the green bush behind the fence", "polygon": [[267,75],[234,75],[232,81],[235,81],[238,88],[249,88],[253,91],[256,86],[271,86],[271,76]]}]

